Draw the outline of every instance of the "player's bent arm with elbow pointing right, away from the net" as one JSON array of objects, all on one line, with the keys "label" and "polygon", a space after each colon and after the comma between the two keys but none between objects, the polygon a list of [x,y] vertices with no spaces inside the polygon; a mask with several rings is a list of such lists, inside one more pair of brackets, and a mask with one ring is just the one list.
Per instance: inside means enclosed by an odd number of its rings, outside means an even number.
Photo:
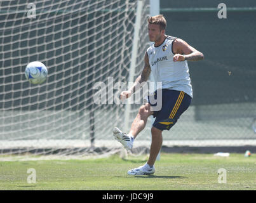
[{"label": "player's bent arm with elbow pointing right, away from the net", "polygon": [[200,51],[196,50],[182,39],[176,39],[173,41],[173,62],[199,61],[203,60],[204,55]]}]

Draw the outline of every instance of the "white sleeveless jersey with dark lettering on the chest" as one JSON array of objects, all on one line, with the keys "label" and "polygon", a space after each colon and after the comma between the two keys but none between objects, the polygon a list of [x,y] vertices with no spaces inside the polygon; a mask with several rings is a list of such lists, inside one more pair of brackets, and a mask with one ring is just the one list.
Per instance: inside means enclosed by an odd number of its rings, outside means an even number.
[{"label": "white sleeveless jersey with dark lettering on the chest", "polygon": [[187,61],[173,62],[175,55],[172,50],[172,43],[176,37],[167,36],[165,41],[155,47],[152,44],[147,49],[149,64],[155,82],[162,82],[163,89],[184,91],[193,97],[189,67]]}]

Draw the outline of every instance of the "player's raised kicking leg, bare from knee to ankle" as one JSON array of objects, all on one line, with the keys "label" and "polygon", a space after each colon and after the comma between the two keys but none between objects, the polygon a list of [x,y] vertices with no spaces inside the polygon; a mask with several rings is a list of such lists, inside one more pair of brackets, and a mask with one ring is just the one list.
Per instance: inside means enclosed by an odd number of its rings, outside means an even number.
[{"label": "player's raised kicking leg, bare from knee to ankle", "polygon": [[140,131],[145,128],[145,124],[147,124],[147,118],[149,115],[153,114],[153,112],[150,110],[150,107],[150,104],[146,103],[139,108],[138,114],[131,124],[131,129],[128,133],[133,136],[133,138],[136,138],[138,133],[140,133]]}]

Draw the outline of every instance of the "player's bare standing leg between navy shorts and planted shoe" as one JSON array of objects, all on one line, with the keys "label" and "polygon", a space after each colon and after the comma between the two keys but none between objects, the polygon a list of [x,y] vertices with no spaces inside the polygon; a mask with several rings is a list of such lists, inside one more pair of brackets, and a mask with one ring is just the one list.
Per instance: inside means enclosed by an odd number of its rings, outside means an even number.
[{"label": "player's bare standing leg between navy shorts and planted shoe", "polygon": [[149,160],[147,161],[147,164],[149,164],[149,166],[154,165],[154,162],[156,161],[156,157],[158,157],[158,153],[163,143],[162,131],[160,129],[155,128],[153,126],[151,128],[151,134],[152,134],[151,149],[149,154]]}]

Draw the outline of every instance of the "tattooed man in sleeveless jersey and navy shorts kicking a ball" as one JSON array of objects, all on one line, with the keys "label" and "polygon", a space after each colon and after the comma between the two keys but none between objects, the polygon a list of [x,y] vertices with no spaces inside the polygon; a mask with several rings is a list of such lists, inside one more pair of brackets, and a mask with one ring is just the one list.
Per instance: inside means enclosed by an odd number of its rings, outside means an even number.
[{"label": "tattooed man in sleeveless jersey and navy shorts kicking a ball", "polygon": [[[118,128],[113,130],[114,138],[130,150],[138,133],[145,128],[147,118],[150,115],[156,117],[151,128],[152,143],[149,160],[144,166],[129,170],[128,174],[131,175],[149,175],[155,172],[154,162],[163,142],[162,131],[172,128],[192,100],[187,61],[198,61],[204,58],[203,53],[189,46],[184,40],[166,36],[166,20],[163,15],[151,16],[147,21],[149,40],[154,44],[145,53],[142,74],[128,91],[121,93],[119,98],[129,98],[135,90],[139,89],[142,82],[149,79],[152,72],[154,80],[162,82],[162,107],[161,110],[154,111],[149,101],[139,108],[128,134]],[[156,92],[154,96],[157,97]]]}]

